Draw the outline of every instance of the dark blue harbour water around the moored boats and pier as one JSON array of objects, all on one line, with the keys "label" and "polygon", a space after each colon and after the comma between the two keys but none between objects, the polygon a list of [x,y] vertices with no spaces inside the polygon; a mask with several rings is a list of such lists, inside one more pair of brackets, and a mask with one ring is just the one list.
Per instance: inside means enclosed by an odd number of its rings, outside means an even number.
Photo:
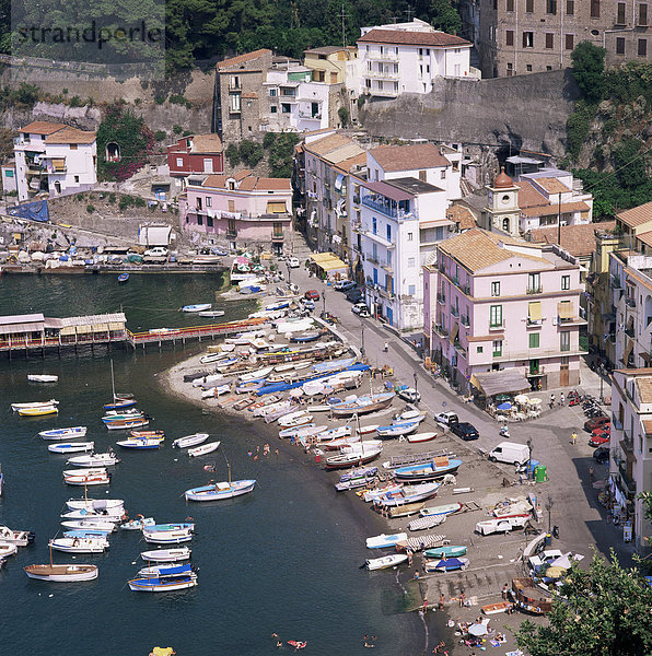
[{"label": "dark blue harbour water around the moored boats and pier", "polygon": [[[132,276],[118,286],[113,276],[3,276],[0,314],[72,316],[117,312],[123,305],[132,330],[184,326],[197,319],[177,308],[214,302],[220,282],[209,276]],[[224,318],[246,316],[252,303],[221,305]],[[48,561],[47,540],[60,529],[65,501],[83,495],[83,488],[63,484],[66,457],[50,454],[37,432],[88,425],[88,438],[97,450],[114,445],[121,434],[109,434],[100,422],[102,405],[110,398],[105,348],[67,352],[60,359],[15,356],[9,362],[0,356],[0,462],[7,480],[0,523],[36,532],[35,543],[21,549],[0,572],[0,654],[69,654],[73,644],[78,656],[147,655],[155,645],[174,646],[179,656],[263,655],[279,653],[272,632],[284,641],[307,641],[306,655],[368,654],[365,633],[377,635],[374,654],[420,653],[418,619],[382,610],[395,575],[359,570],[369,555],[364,538],[380,532],[361,526],[360,518],[372,522],[372,513],[336,495],[330,478],[296,452],[286,448],[257,462],[249,458],[248,449],[261,449],[270,441],[260,424],[206,415],[165,396],[156,375],[199,348],[113,351],[116,387],[137,395],[139,407],[154,417],[153,427],[165,430],[166,446],[121,452],[112,484],[89,488],[94,497],[124,499],[131,515],[142,513],[159,522],[194,518],[197,534],[189,546],[199,585],[161,595],[126,587],[142,566],[140,551],[151,548],[138,531],[113,534],[104,555],[78,557],[78,562],[100,565],[95,582],[48,584],[25,576],[23,566]],[[57,374],[60,382],[30,384],[27,373]],[[60,401],[54,419],[20,419],[9,407],[51,397]],[[170,447],[175,437],[199,431],[221,440],[220,450],[190,459]],[[234,478],[257,479],[254,493],[232,502],[188,505],[184,490],[211,476],[225,480],[224,455]],[[202,470],[207,462],[218,466],[218,475]],[[71,562],[72,557],[56,553],[55,560]]]}]

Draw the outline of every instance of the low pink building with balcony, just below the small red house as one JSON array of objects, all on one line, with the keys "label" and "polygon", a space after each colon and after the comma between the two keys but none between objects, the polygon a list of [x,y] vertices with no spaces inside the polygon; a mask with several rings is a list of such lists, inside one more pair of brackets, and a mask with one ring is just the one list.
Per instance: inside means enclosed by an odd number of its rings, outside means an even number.
[{"label": "low pink building with balcony, just below the small red house", "polygon": [[179,209],[186,232],[225,241],[231,248],[256,244],[282,253],[292,242],[289,178],[261,178],[251,171],[190,176]]}]

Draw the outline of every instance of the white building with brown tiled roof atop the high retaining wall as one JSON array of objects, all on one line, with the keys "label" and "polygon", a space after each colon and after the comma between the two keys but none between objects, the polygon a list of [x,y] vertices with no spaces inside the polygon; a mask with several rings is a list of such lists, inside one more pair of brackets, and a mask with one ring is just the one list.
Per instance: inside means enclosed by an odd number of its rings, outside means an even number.
[{"label": "white building with brown tiled roof atop the high retaining wall", "polygon": [[470,67],[471,44],[439,32],[423,21],[362,27],[358,61],[359,93],[397,97],[430,93],[433,80],[477,77]]}]

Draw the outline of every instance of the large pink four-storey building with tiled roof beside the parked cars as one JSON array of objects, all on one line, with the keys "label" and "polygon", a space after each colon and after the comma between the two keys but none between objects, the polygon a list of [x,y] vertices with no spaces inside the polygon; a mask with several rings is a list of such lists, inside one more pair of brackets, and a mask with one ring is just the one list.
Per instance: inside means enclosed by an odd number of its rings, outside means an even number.
[{"label": "large pink four-storey building with tiled roof beside the parked cars", "polygon": [[423,267],[426,344],[463,390],[484,391],[487,372],[507,379],[508,370],[523,389],[579,384],[585,321],[574,258],[471,229],[438,244],[436,261]]}]

